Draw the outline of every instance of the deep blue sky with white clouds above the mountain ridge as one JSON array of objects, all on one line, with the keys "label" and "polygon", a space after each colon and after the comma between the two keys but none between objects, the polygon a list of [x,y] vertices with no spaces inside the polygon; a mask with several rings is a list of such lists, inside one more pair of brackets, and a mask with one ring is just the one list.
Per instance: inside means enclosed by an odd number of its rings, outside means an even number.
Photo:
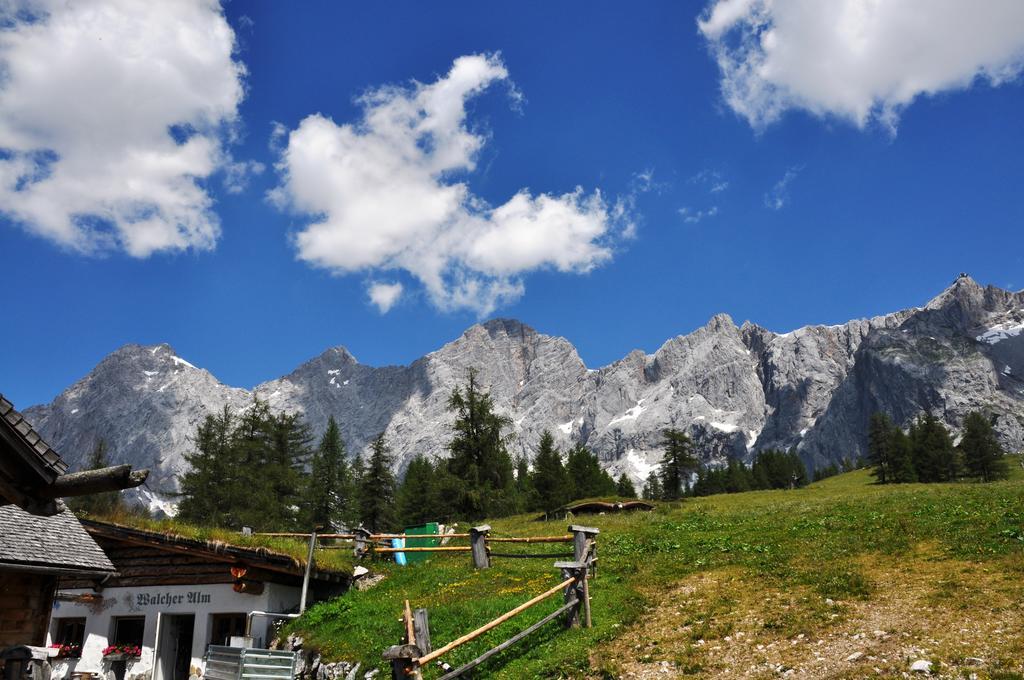
[{"label": "deep blue sky with white clouds above the mountain ridge", "polygon": [[[723,311],[787,331],[922,304],[959,271],[1024,287],[1017,3],[974,23],[939,3],[896,38],[899,16],[757,0],[194,4],[128,36],[89,3],[0,23],[0,391],[22,407],[129,342],[248,387],[511,316],[597,367]],[[141,42],[75,52],[61,26]],[[425,100],[442,113],[397,132],[367,118]],[[517,196],[523,222],[503,216]]]}]

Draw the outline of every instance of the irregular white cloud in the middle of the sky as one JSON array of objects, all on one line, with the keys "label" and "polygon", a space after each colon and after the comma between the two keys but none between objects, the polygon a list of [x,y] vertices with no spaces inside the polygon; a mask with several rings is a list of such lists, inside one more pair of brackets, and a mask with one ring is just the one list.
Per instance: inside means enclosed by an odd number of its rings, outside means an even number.
[{"label": "irregular white cloud in the middle of the sky", "polygon": [[436,306],[481,315],[520,297],[525,272],[607,262],[631,226],[599,192],[523,188],[493,207],[465,182],[486,141],[466,102],[499,83],[499,56],[462,56],[433,83],[368,92],[356,123],[314,114],[276,130],[282,183],[270,199],[312,217],[295,238],[299,258],[337,273],[404,269]]}]

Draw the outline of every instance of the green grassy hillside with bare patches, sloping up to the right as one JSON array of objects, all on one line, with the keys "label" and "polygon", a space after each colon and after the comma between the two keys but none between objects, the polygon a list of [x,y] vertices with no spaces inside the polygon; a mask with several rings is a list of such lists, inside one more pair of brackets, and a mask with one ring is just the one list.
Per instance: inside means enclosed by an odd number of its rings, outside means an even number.
[{"label": "green grassy hillside with bare patches, sloping up to the right", "polygon": [[[582,521],[601,528],[594,628],[548,626],[488,662],[487,677],[777,677],[791,668],[805,677],[898,677],[916,658],[948,677],[1024,677],[1016,462],[1011,480],[992,484],[879,486],[856,471],[798,491]],[[532,516],[490,524],[496,536],[566,526]],[[383,668],[404,599],[429,608],[440,646],[557,583],[553,561],[496,557],[481,571],[464,553],[378,563],[372,568],[387,577],[380,585],[319,604],[290,628],[330,660]],[[446,661],[468,661],[555,606],[540,605]]]}]

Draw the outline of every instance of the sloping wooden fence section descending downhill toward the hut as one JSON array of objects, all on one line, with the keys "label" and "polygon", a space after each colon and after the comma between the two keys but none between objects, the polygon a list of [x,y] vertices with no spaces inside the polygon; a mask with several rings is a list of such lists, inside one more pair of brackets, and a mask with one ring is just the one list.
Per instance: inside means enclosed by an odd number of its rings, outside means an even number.
[{"label": "sloping wooden fence section descending downhill toward the hut", "polygon": [[[410,607],[409,600],[406,600],[402,622],[404,623],[404,634],[400,644],[388,647],[384,652],[384,658],[391,662],[391,677],[393,680],[404,680],[414,678],[422,680],[423,669],[431,663],[436,663],[444,671],[438,680],[450,680],[458,678],[468,671],[476,668],[495,654],[498,654],[514,644],[525,639],[546,624],[554,621],[558,617],[563,617],[566,628],[575,628],[581,625],[590,628],[592,626],[590,611],[590,586],[589,577],[595,570],[597,563],[597,543],[596,536],[600,533],[597,528],[590,526],[569,526],[572,532],[574,544],[574,557],[572,561],[555,562],[554,567],[561,573],[561,583],[553,586],[545,592],[530,598],[519,606],[506,611],[502,615],[480,626],[474,631],[449,642],[447,644],[432,649],[430,640],[430,625],[427,609],[416,609]],[[536,539],[535,539],[536,541]],[[471,662],[452,669],[446,664],[440,662],[440,657],[450,651],[475,640],[487,631],[490,631],[505,622],[514,619],[530,607],[544,602],[545,600],[563,594],[563,603],[554,611],[548,613],[543,619],[531,626],[519,631],[501,644],[498,644]],[[582,612],[581,612],[582,610]],[[582,613],[582,621],[581,621]]]}]

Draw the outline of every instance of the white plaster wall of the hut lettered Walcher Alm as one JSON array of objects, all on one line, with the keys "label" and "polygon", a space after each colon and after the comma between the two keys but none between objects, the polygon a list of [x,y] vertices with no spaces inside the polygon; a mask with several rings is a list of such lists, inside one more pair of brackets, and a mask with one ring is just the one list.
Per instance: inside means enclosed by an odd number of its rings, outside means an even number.
[{"label": "white plaster wall of the hut lettered Walcher Alm", "polygon": [[[91,589],[61,590],[61,593],[72,595],[95,594]],[[67,680],[76,671],[103,674],[110,670],[110,664],[103,662],[102,650],[108,646],[108,638],[114,634],[114,619],[116,617],[145,617],[145,627],[142,634],[142,654],[137,661],[129,661],[125,678],[152,674],[155,658],[154,646],[157,640],[157,614],[194,613],[196,626],[193,630],[193,661],[191,665],[203,668],[203,655],[210,639],[211,614],[215,613],[248,613],[250,611],[288,611],[299,603],[300,589],[293,586],[265,584],[259,595],[236,593],[230,584],[206,586],[146,586],[141,588],[105,588],[100,593],[102,601],[90,605],[77,602],[54,601],[50,620],[50,631],[46,643],[52,642],[52,634],[56,630],[57,618],[84,618],[85,640],[80,658],[53,660],[53,680]],[[191,603],[188,594],[196,593],[200,599],[209,596],[209,602]],[[140,604],[139,596],[148,595],[170,596],[180,600],[171,603]],[[257,646],[265,645],[272,635],[272,621],[256,618],[253,621],[253,637]]]}]

